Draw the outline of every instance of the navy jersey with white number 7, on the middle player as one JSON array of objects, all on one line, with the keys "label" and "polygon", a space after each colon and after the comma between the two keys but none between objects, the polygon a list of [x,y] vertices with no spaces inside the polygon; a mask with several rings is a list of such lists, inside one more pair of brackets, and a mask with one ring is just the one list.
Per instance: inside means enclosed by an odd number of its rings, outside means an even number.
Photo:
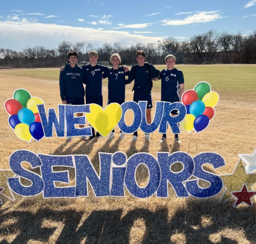
[{"label": "navy jersey with white number 7, on the middle player", "polygon": [[128,74],[129,71],[125,72],[124,68],[120,66],[119,69],[108,68],[103,73],[103,78],[108,77],[108,99],[125,99],[125,76]]}]

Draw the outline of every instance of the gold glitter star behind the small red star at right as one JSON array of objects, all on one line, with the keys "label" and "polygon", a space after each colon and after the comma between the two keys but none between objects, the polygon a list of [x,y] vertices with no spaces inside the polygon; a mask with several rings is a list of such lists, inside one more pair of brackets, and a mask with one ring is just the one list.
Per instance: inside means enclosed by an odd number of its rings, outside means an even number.
[{"label": "gold glitter star behind the small red star at right", "polygon": [[222,198],[220,198],[220,201],[226,201],[231,198],[232,195],[230,194],[230,192],[240,191],[244,183],[247,184],[249,190],[252,190],[253,185],[255,185],[256,183],[256,174],[246,173],[245,167],[241,159],[238,160],[232,174],[219,176],[222,178],[223,184],[226,187]]}]

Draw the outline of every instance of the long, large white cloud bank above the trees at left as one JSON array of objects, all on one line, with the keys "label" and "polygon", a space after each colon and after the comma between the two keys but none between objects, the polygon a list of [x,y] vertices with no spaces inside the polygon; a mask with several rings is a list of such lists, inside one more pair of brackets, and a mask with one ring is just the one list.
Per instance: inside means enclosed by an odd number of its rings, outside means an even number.
[{"label": "long, large white cloud bank above the trees at left", "polygon": [[105,42],[120,42],[134,45],[137,42],[148,43],[162,40],[162,37],[136,35],[120,30],[96,30],[94,28],[72,27],[58,24],[22,23],[0,21],[0,43],[2,48],[21,50],[24,47],[45,46],[55,48],[63,40],[76,43],[92,42],[95,47]]}]

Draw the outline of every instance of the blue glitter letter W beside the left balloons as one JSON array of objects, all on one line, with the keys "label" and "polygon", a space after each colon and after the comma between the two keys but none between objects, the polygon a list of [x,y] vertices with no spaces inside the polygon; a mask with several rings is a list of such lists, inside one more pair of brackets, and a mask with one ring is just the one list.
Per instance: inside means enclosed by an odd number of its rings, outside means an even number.
[{"label": "blue glitter letter W beside the left balloons", "polygon": [[48,109],[48,119],[46,117],[46,111],[44,104],[40,104],[37,106],[39,115],[41,118],[41,122],[44,129],[45,137],[52,137],[53,133],[53,125],[56,130],[58,137],[64,137],[65,133],[65,106],[58,105],[59,107],[59,119],[57,119],[57,115],[54,108]]}]

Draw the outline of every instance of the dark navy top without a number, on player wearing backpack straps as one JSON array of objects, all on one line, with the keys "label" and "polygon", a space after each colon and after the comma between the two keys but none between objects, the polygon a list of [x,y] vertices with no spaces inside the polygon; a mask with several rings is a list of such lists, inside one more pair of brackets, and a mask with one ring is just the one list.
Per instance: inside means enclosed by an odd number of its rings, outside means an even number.
[{"label": "dark navy top without a number, on player wearing backpack straps", "polygon": [[149,94],[152,88],[151,78],[155,78],[159,72],[152,64],[144,64],[144,66],[133,65],[127,83],[129,84],[134,80],[134,93]]}]

